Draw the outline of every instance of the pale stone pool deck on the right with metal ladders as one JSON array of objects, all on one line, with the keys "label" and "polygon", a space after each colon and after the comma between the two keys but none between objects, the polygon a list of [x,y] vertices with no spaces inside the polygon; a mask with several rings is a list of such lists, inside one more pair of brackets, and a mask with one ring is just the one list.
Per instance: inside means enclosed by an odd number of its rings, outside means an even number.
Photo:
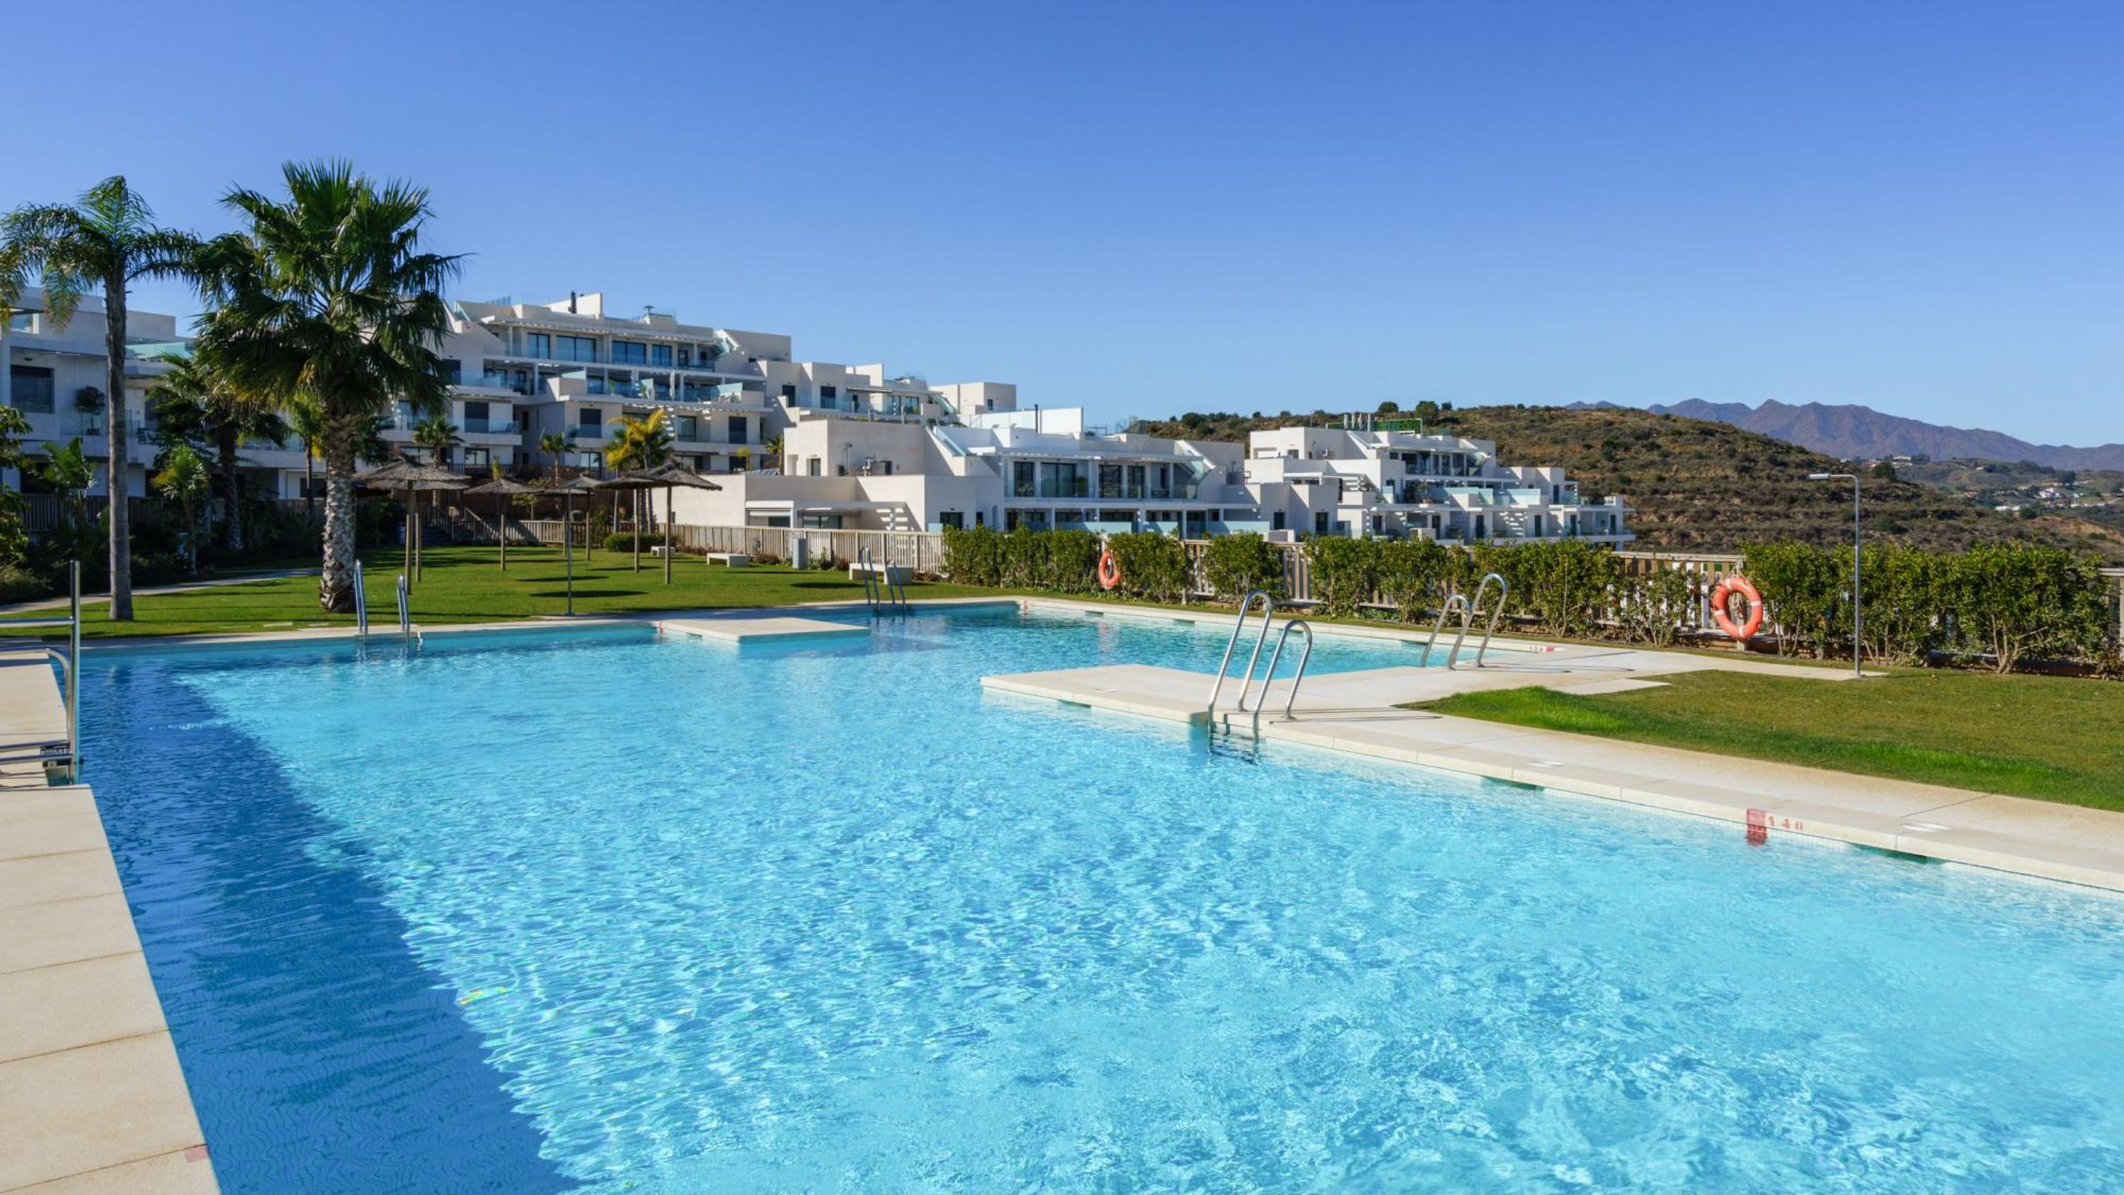
[{"label": "pale stone pool deck on the right with metal ladders", "polygon": [[[1113,616],[1113,607],[1037,601],[1056,613]],[[1126,611],[1162,618],[1172,611]],[[1185,618],[1183,618],[1185,620]],[[1230,624],[1230,616],[1226,616]],[[1321,628],[1330,633],[1330,628]],[[1342,633],[1342,628],[1332,628]],[[1364,637],[1415,639],[1406,630],[1364,628]],[[1740,760],[1703,751],[1529,730],[1451,717],[1406,703],[1457,692],[1542,686],[1559,692],[1618,692],[1657,677],[1703,669],[1769,673],[1850,683],[1846,671],[1629,647],[1502,641],[1483,669],[1364,669],[1315,673],[1283,717],[1289,683],[1266,694],[1260,737],[1395,760],[1449,773],[1623,800],[1672,813],[1733,821],[1744,830],[1831,838],[1884,851],[1975,864],[2028,877],[2124,891],[2124,815],[2020,796],[1858,777],[1822,768]],[[1234,669],[1236,671],[1236,669]],[[1289,664],[1283,666],[1285,675]],[[981,677],[990,692],[1068,703],[1136,717],[1209,722],[1215,677],[1149,664],[1109,664]],[[1260,694],[1260,686],[1255,688]],[[1253,713],[1238,713],[1236,681],[1217,700],[1215,730],[1251,737]]]}]

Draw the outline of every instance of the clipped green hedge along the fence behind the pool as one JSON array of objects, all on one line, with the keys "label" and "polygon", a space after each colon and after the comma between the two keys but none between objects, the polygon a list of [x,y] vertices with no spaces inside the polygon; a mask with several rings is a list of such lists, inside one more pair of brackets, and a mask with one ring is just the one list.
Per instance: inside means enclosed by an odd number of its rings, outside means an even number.
[{"label": "clipped green hedge along the fence behind the pool", "polygon": [[[971,586],[1094,592],[1098,537],[1087,531],[945,531],[945,575]],[[1189,596],[1187,548],[1168,535],[1111,535],[1119,596]],[[1311,599],[1334,618],[1387,607],[1402,622],[1436,616],[1446,594],[1474,596],[1487,573],[1508,582],[1506,613],[1546,635],[1608,633],[1655,647],[1680,639],[1701,601],[1701,575],[1655,560],[1623,571],[1606,548],[1576,539],[1449,548],[1427,539],[1313,537],[1300,548]],[[1253,588],[1283,601],[1289,550],[1253,533],[1223,535],[1202,554],[1202,582],[1236,603]],[[1765,633],[1780,654],[1850,650],[1850,550],[1752,543],[1742,571],[1763,594]],[[1980,658],[1997,671],[2031,660],[2092,660],[2118,671],[2120,645],[2105,579],[2092,558],[2035,543],[1926,552],[1865,550],[1865,652],[1892,664]]]}]

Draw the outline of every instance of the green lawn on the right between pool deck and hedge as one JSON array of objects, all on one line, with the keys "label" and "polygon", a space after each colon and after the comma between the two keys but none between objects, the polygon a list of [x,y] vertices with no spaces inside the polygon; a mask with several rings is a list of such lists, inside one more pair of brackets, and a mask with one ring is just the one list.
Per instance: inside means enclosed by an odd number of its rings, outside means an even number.
[{"label": "green lawn on the right between pool deck and hedge", "polygon": [[1417,709],[2124,809],[2124,688],[2075,677],[1899,671],[1829,683],[1703,671],[1652,690],[1472,692]]}]

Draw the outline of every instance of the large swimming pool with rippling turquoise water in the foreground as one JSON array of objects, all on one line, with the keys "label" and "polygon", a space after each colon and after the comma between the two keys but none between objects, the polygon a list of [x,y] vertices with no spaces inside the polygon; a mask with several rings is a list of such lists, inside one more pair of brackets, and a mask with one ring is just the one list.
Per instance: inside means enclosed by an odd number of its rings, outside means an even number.
[{"label": "large swimming pool with rippling turquoise water in the foreground", "polygon": [[91,654],[83,732],[229,1191],[2124,1180],[2113,898],[977,683],[1221,650]]}]

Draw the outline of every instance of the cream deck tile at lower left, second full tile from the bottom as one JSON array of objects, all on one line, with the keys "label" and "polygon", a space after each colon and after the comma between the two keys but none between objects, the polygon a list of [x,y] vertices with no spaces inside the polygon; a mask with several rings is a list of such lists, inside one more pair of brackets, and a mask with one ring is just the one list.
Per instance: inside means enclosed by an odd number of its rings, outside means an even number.
[{"label": "cream deck tile at lower left, second full tile from the bottom", "polygon": [[[0,974],[0,1061],[136,1038],[164,1027],[140,953]],[[36,1010],[36,1015],[21,1015]]]}]

